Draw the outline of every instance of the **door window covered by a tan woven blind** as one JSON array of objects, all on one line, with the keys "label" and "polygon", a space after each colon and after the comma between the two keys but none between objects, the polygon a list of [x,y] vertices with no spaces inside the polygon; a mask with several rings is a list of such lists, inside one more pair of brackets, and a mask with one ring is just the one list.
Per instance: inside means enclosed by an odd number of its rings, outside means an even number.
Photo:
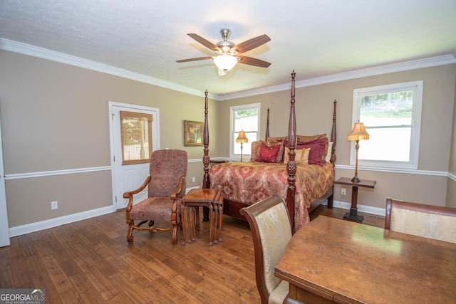
[{"label": "door window covered by a tan woven blind", "polygon": [[152,115],[120,111],[122,164],[150,161],[152,154]]}]

